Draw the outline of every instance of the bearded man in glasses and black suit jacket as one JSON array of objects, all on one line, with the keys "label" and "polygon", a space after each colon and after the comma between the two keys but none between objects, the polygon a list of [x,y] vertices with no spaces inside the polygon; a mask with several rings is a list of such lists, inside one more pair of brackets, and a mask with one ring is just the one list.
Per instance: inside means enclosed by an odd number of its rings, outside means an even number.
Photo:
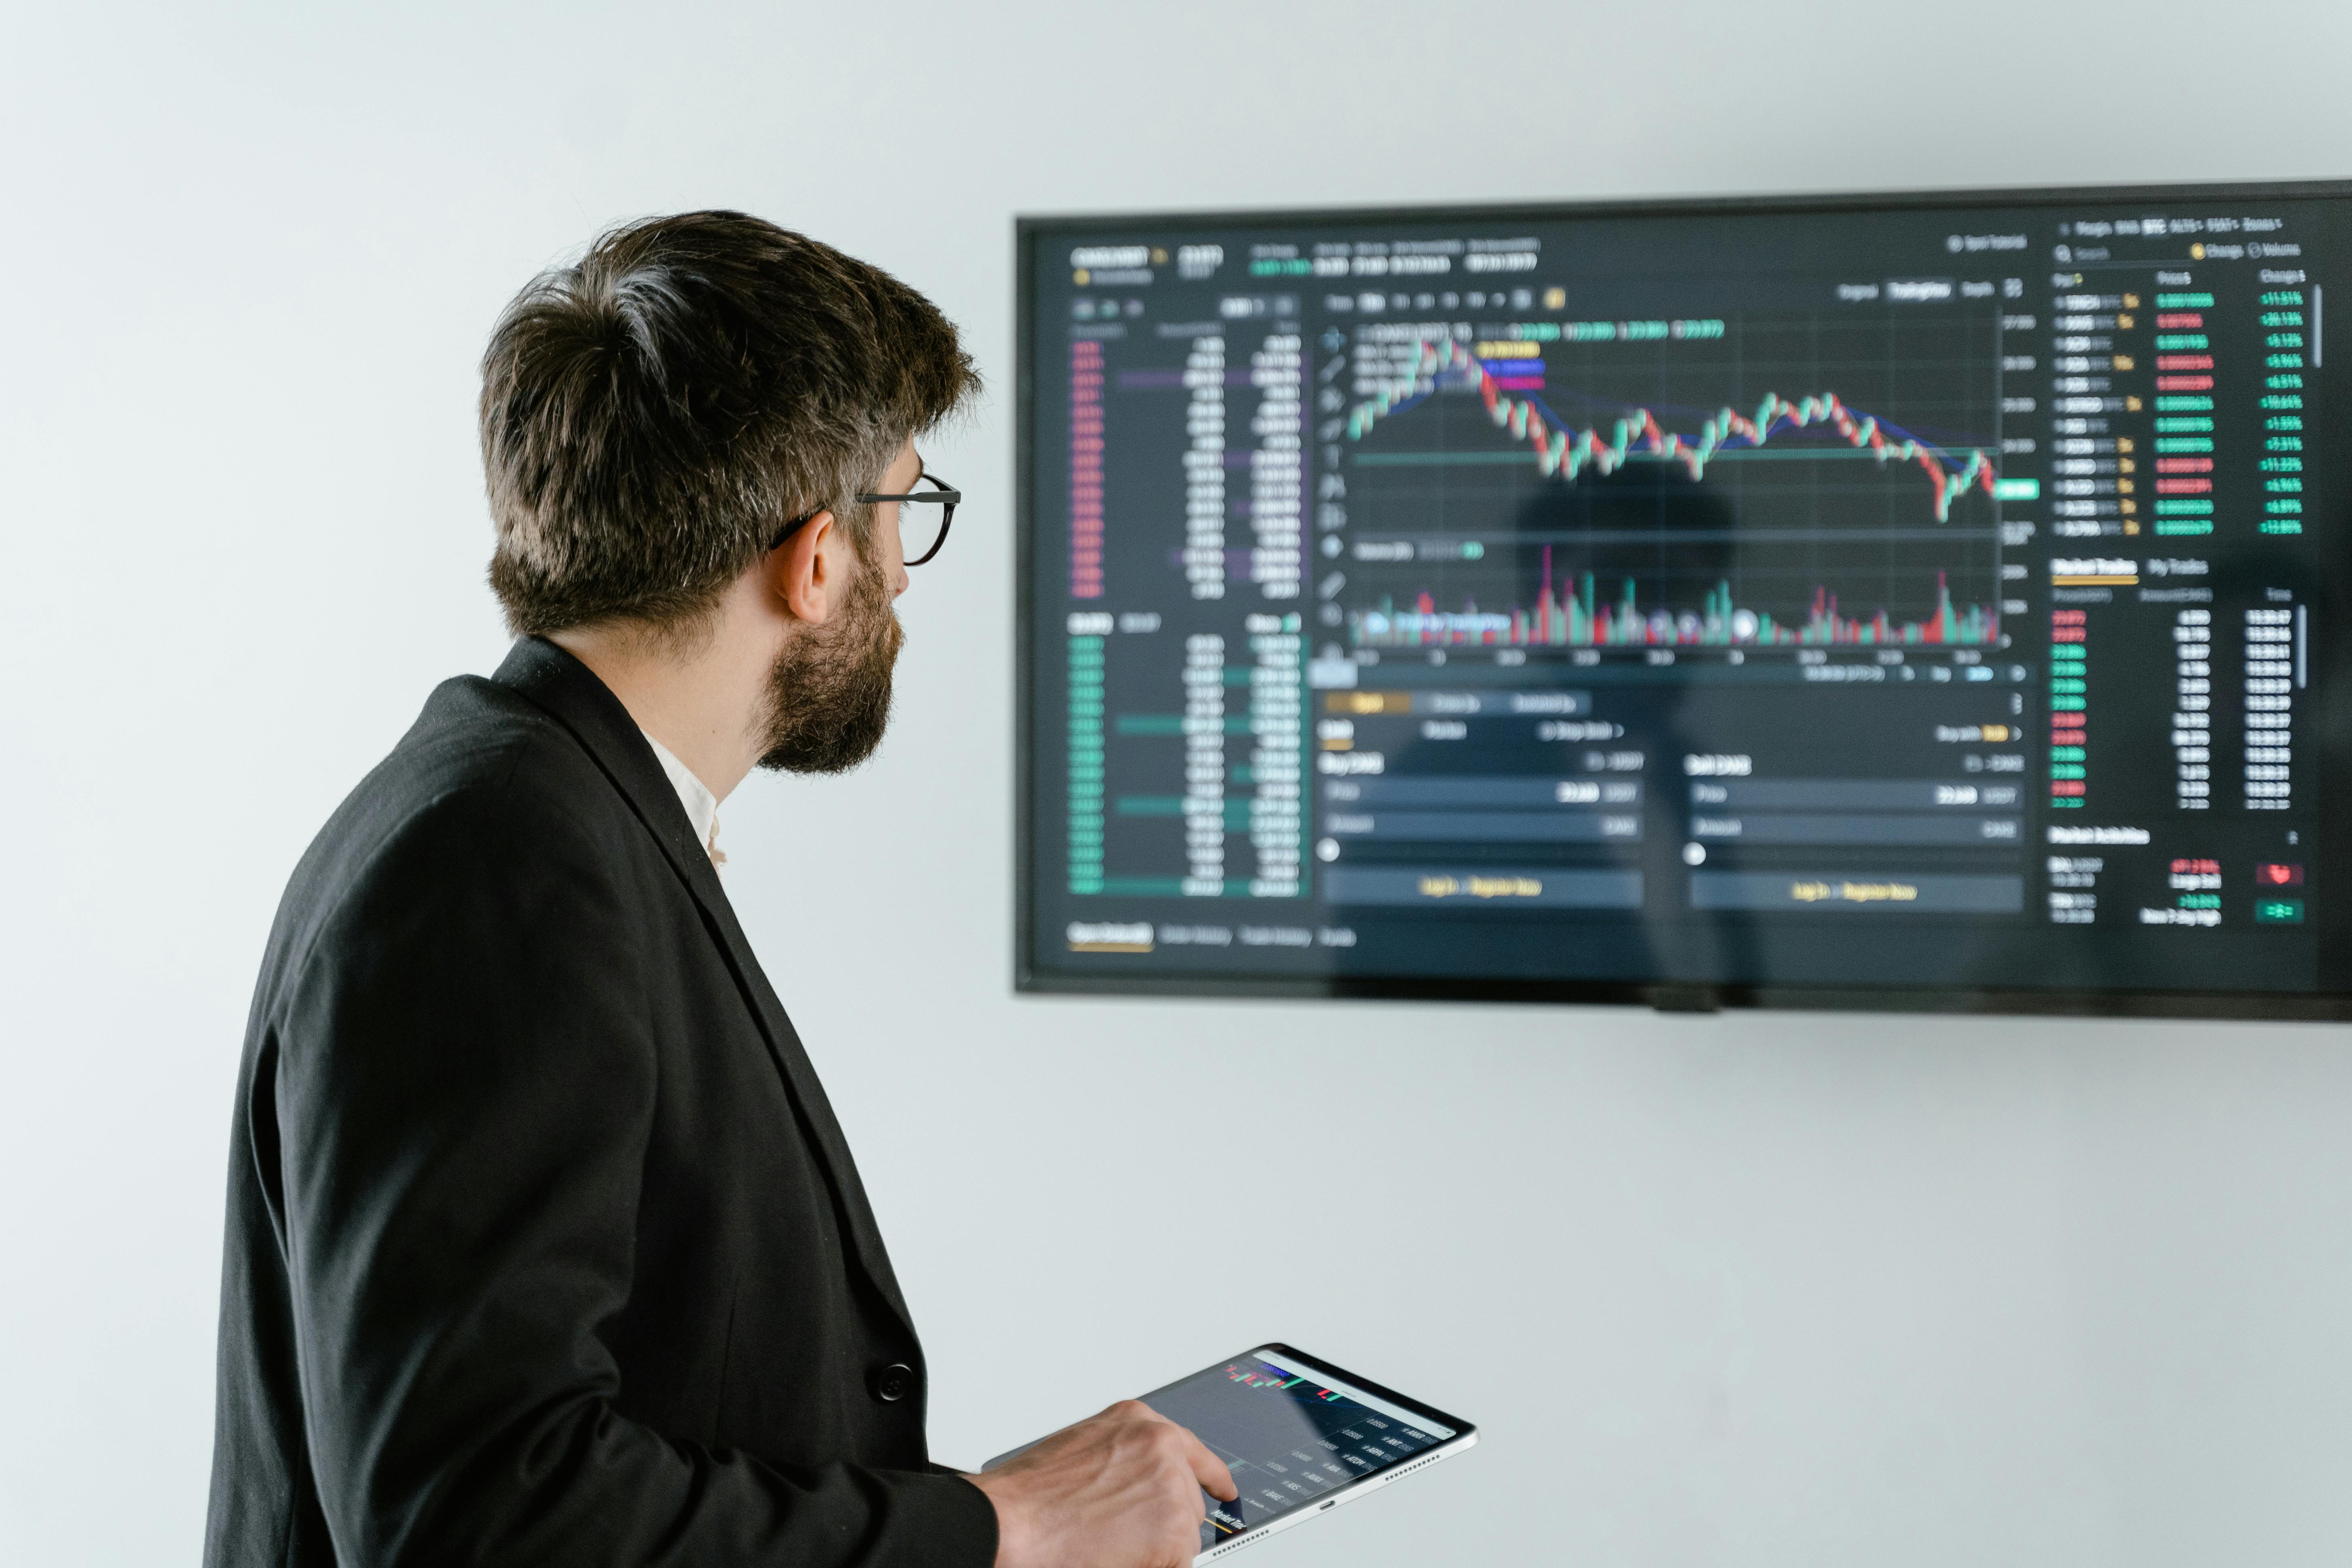
[{"label": "bearded man in glasses and black suit jacket", "polygon": [[920,294],[727,212],[609,233],[499,322],[489,581],[522,639],[433,693],[270,933],[207,1563],[1197,1549],[1230,1476],[1143,1406],[988,1476],[929,1462],[889,1255],[715,870],[755,764],[882,738],[906,543],[953,501],[913,440],[976,388]]}]

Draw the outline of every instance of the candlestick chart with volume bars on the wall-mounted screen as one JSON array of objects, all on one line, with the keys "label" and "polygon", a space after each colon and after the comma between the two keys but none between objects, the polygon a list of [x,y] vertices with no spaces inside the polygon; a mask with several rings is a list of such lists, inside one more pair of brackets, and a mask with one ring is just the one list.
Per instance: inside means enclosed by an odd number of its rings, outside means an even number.
[{"label": "candlestick chart with volume bars on the wall-mounted screen", "polygon": [[1999,642],[1990,324],[1489,331],[1352,346],[1357,646]]}]

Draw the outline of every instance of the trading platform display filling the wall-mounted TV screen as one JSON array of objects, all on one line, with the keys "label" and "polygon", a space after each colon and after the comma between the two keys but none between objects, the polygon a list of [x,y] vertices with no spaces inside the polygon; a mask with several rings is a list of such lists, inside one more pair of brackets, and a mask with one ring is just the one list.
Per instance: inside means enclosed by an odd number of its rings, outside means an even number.
[{"label": "trading platform display filling the wall-mounted TV screen", "polygon": [[2347,226],[1025,226],[1028,978],[2345,990]]}]

